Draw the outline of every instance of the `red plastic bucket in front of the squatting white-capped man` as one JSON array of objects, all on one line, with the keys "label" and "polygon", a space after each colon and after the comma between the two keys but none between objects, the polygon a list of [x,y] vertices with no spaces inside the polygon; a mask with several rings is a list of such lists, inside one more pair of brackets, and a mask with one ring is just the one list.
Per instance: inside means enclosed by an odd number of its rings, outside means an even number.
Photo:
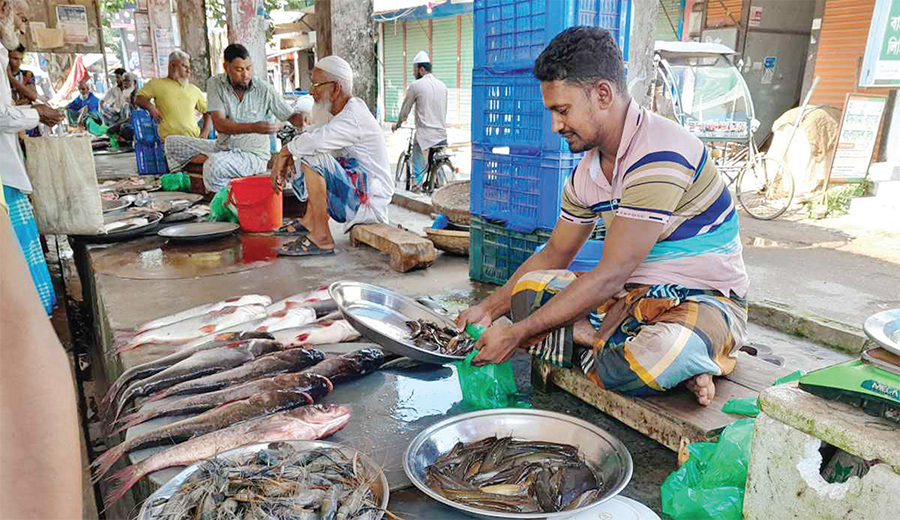
[{"label": "red plastic bucket in front of the squatting white-capped man", "polygon": [[228,201],[237,208],[244,231],[265,233],[281,227],[281,193],[272,189],[268,175],[233,179]]}]

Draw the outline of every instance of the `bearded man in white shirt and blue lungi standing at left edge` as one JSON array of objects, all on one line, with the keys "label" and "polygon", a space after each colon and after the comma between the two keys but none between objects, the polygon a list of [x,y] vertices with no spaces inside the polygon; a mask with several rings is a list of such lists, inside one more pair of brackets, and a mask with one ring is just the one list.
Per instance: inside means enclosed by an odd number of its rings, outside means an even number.
[{"label": "bearded man in white shirt and blue lungi standing at left edge", "polygon": [[[21,0],[0,0],[0,70],[4,72],[9,64],[9,51],[19,47],[19,34],[24,31],[24,12],[25,4]],[[47,260],[41,249],[34,212],[28,201],[31,181],[25,173],[16,134],[22,130],[31,130],[39,122],[54,126],[63,118],[62,112],[47,105],[36,104],[33,108],[15,106],[9,77],[0,73],[0,176],[3,177],[3,197],[0,197],[0,203],[5,198],[16,238],[19,239],[32,281],[47,314],[53,311],[56,294],[47,269]]]}]

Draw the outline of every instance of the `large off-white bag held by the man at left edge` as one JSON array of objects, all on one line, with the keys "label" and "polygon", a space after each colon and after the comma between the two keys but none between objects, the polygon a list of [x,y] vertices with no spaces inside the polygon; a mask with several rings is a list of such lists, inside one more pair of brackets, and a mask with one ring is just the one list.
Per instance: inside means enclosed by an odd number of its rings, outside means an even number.
[{"label": "large off-white bag held by the man at left edge", "polygon": [[103,203],[91,138],[26,137],[25,153],[25,167],[34,187],[34,215],[41,233],[102,234]]}]

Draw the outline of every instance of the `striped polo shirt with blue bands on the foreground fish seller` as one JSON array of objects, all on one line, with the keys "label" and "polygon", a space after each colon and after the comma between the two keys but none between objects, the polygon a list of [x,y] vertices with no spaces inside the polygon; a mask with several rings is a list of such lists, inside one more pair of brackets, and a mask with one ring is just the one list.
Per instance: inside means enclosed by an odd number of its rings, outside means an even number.
[{"label": "striped polo shirt with blue bands on the foreground fish seller", "polygon": [[591,150],[566,180],[561,218],[583,225],[616,217],[664,224],[629,283],[678,284],[745,297],[749,286],[734,200],[703,143],[680,125],[628,107],[612,182]]}]

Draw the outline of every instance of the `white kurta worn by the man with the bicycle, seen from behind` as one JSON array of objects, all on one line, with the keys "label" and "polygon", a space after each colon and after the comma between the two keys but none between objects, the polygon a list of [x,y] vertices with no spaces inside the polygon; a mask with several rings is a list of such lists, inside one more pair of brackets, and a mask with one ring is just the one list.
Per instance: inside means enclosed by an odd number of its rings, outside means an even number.
[{"label": "white kurta worn by the man with the bicycle, seen from behind", "polygon": [[406,89],[398,120],[405,121],[416,105],[416,141],[427,150],[447,140],[447,86],[434,74],[426,74]]}]

